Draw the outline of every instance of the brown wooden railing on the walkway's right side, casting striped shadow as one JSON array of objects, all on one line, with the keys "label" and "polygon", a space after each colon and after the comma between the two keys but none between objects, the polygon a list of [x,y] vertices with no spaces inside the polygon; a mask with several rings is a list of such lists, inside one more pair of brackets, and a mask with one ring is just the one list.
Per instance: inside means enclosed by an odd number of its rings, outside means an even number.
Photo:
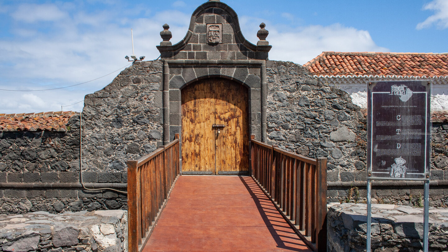
[{"label": "brown wooden railing on the walkway's right side, casting striped shadow", "polygon": [[327,251],[327,158],[312,159],[251,136],[251,174],[296,233]]}]

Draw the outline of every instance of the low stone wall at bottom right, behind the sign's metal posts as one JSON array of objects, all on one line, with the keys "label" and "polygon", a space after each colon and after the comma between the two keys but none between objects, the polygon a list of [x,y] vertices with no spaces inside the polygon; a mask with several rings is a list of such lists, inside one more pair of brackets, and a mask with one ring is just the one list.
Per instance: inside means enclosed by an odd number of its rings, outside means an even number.
[{"label": "low stone wall at bottom right, behind the sign's metal posts", "polygon": [[[328,204],[327,251],[362,252],[366,249],[366,204]],[[429,251],[447,251],[448,209],[430,208]],[[422,251],[423,209],[372,204],[372,252]]]}]

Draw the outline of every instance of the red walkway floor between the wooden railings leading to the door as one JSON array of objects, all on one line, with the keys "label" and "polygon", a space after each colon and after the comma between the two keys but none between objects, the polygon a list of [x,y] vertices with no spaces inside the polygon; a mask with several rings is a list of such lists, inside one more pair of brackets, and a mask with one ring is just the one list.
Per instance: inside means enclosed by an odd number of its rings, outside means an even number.
[{"label": "red walkway floor between the wooden railings leading to the door", "polygon": [[311,251],[251,177],[181,176],[143,252]]}]

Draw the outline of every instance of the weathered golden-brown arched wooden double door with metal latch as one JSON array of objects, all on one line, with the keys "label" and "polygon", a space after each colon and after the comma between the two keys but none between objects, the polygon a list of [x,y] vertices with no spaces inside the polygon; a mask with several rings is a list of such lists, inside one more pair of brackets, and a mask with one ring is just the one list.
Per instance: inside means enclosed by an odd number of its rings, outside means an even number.
[{"label": "weathered golden-brown arched wooden double door with metal latch", "polygon": [[224,78],[209,78],[181,91],[182,172],[247,174],[248,90]]}]

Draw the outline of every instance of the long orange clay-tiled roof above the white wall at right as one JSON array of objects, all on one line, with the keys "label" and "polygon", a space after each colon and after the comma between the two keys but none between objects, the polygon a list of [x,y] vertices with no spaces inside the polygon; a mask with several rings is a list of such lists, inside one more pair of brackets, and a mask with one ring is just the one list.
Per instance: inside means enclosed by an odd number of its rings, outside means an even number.
[{"label": "long orange clay-tiled roof above the white wall at right", "polygon": [[322,52],[304,65],[317,76],[448,78],[448,53]]}]

